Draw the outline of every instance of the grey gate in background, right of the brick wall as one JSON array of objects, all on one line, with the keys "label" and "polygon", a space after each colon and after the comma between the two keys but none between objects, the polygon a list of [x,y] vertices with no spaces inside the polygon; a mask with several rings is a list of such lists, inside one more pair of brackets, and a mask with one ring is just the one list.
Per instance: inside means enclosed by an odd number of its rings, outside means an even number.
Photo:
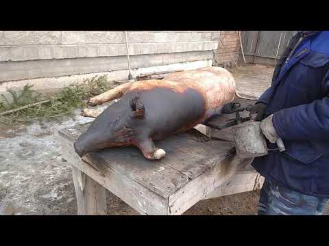
[{"label": "grey gate in background, right of the brick wall", "polygon": [[242,31],[243,52],[248,63],[255,64],[258,57],[271,59],[276,64],[297,31]]}]

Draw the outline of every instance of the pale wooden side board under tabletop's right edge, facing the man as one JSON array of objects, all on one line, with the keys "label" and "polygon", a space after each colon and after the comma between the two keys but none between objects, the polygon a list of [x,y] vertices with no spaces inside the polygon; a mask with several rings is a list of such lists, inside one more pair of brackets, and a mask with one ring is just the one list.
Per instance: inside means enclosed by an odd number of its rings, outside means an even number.
[{"label": "pale wooden side board under tabletop's right edge, facing the man", "polygon": [[221,163],[214,165],[204,174],[191,180],[182,189],[169,197],[169,215],[181,215],[199,200],[221,186],[252,159],[238,159],[232,154]]}]

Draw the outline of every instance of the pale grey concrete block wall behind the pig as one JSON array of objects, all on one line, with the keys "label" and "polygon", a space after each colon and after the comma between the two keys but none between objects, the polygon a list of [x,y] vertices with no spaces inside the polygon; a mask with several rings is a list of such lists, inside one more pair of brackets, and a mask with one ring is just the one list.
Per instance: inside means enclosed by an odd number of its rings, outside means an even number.
[{"label": "pale grey concrete block wall behind the pig", "polygon": [[[211,66],[219,36],[230,49],[236,42],[230,31],[128,31],[133,74]],[[0,31],[0,92],[23,83],[62,87],[95,74],[127,79],[123,31]]]}]

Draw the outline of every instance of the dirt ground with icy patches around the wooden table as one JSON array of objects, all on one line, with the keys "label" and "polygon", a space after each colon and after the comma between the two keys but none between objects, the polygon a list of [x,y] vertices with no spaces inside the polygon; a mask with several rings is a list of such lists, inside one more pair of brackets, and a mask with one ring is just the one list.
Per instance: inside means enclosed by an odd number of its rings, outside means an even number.
[{"label": "dirt ground with icy patches around the wooden table", "polygon": [[[231,68],[238,92],[260,96],[269,87],[273,67]],[[57,132],[90,121],[76,118],[35,122],[28,126],[0,125],[0,215],[76,215],[71,167],[60,152]],[[198,202],[184,215],[256,215],[259,191]],[[138,215],[107,192],[108,215]],[[326,214],[329,214],[327,208]]]}]

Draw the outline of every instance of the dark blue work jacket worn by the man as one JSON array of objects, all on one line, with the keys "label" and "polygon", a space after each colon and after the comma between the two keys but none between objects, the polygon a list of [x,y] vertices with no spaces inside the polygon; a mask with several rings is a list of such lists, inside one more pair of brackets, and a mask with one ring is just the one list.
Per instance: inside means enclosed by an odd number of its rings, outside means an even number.
[{"label": "dark blue work jacket worn by the man", "polygon": [[329,31],[304,38],[258,102],[267,103],[286,151],[252,166],[265,178],[307,195],[329,197]]}]

